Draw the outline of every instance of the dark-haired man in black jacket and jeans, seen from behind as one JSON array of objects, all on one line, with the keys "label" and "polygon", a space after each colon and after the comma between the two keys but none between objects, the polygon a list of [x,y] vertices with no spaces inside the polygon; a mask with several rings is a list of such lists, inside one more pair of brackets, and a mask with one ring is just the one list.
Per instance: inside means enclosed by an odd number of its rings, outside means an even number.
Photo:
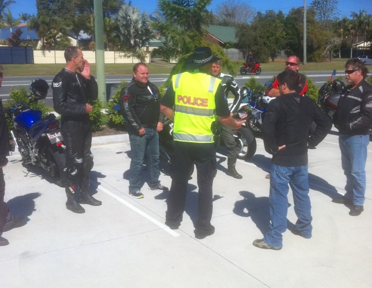
[{"label": "dark-haired man in black jacket and jeans, seen from behind", "polygon": [[[273,155],[270,171],[269,232],[253,245],[262,249],[280,250],[282,233],[287,230],[289,192],[293,192],[294,209],[298,217],[294,234],[311,238],[312,216],[309,198],[307,143],[316,146],[331,130],[331,120],[310,97],[301,97],[298,74],[286,70],[277,76],[280,97],[272,100],[262,122],[265,150]],[[316,129],[309,138],[311,123]]]}]

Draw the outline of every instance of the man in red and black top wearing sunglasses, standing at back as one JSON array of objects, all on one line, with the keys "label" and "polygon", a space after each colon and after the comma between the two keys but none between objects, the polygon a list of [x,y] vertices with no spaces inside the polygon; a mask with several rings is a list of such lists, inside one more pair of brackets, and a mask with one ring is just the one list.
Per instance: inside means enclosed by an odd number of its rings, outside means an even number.
[{"label": "man in red and black top wearing sunglasses, standing at back", "polygon": [[[299,62],[300,61],[297,56],[295,55],[289,56],[287,61],[285,61],[285,70],[291,70],[291,71],[298,73]],[[305,75],[298,73],[298,76],[299,76],[299,84],[298,84],[298,88],[296,88],[296,92],[298,92],[298,94],[302,96],[307,91],[307,81],[306,81]],[[280,96],[278,78],[275,78],[274,83],[268,87],[267,95],[269,95],[270,97]]]}]

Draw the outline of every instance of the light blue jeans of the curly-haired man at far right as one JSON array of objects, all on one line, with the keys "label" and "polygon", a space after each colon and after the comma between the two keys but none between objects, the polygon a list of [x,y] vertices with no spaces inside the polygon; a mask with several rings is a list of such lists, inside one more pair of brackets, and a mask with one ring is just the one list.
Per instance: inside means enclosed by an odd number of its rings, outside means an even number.
[{"label": "light blue jeans of the curly-haired man at far right", "polygon": [[354,205],[363,205],[366,193],[366,161],[369,135],[340,134],[341,164],[346,176],[345,197]]}]

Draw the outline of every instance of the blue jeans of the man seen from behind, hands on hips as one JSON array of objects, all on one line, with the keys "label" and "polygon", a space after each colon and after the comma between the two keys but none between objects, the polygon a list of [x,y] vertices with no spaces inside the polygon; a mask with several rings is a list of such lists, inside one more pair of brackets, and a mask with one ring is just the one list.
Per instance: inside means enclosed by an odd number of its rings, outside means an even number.
[{"label": "blue jeans of the man seen from behind, hands on hips", "polygon": [[304,236],[311,237],[313,227],[311,221],[311,203],[309,198],[309,177],[307,165],[284,167],[272,164],[270,172],[270,231],[263,240],[270,246],[281,248],[282,233],[287,230],[288,184],[293,192],[295,213],[298,220],[296,229]]}]

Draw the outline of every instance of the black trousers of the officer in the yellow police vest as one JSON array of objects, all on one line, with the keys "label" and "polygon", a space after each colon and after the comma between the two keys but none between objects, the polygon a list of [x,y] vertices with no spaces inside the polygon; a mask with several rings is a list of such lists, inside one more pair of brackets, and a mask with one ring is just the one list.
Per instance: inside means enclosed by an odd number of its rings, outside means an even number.
[{"label": "black trousers of the officer in the yellow police vest", "polygon": [[213,143],[199,144],[175,141],[175,159],[172,165],[172,185],[167,198],[166,222],[179,226],[185,211],[189,172],[195,163],[198,175],[199,200],[196,230],[211,230],[213,211],[213,179],[216,176],[216,151]]}]

